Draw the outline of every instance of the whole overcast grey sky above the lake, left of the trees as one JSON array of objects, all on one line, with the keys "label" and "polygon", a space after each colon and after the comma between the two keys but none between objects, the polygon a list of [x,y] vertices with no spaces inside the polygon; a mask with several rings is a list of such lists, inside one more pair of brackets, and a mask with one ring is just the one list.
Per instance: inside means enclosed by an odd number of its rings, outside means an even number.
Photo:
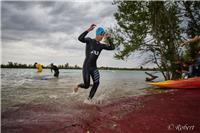
[{"label": "whole overcast grey sky above the lake, left of the trees", "polygon": [[[78,36],[92,23],[105,29],[116,24],[112,1],[14,1],[1,3],[2,63],[8,61],[82,66],[85,44]],[[95,30],[88,34],[95,37]],[[116,51],[102,51],[98,66],[138,67],[137,56],[116,60]]]}]

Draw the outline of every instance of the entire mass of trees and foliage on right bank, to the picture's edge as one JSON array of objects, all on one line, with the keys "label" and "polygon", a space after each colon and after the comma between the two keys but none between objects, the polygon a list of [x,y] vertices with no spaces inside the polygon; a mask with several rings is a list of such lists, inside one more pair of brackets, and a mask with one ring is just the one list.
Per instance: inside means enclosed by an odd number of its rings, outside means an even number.
[{"label": "entire mass of trees and foliage on right bank, to the picture's edge", "polygon": [[113,4],[117,7],[114,13],[117,24],[109,32],[117,50],[114,57],[125,60],[140,52],[144,57],[142,63],[154,64],[165,80],[180,79],[181,65],[191,64],[198,55],[200,2],[114,1]]}]

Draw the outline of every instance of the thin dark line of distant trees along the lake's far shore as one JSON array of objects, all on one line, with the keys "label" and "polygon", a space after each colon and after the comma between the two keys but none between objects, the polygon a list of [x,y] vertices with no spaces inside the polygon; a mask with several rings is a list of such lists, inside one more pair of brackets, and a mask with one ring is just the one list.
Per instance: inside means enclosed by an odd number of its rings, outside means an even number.
[{"label": "thin dark line of distant trees along the lake's far shore", "polygon": [[[17,62],[8,62],[8,64],[1,64],[1,68],[34,68],[33,64],[22,64]],[[49,69],[50,65],[44,66],[44,69]],[[58,65],[59,69],[82,69],[78,65],[70,66],[69,63]],[[157,71],[156,68],[119,68],[119,67],[99,67],[101,70],[143,70],[143,71]]]}]

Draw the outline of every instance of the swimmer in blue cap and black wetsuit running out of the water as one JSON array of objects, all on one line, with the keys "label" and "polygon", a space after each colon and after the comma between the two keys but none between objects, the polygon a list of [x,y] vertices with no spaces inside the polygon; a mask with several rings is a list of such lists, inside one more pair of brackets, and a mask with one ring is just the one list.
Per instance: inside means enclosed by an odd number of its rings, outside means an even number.
[{"label": "swimmer in blue cap and black wetsuit running out of the water", "polygon": [[[74,88],[74,92],[78,91],[78,88],[85,88],[88,89],[90,86],[90,76],[93,80],[93,85],[88,96],[88,102],[94,97],[96,90],[99,86],[99,71],[97,69],[96,61],[103,49],[105,50],[114,50],[114,45],[111,41],[110,35],[105,33],[105,30],[102,27],[98,27],[96,30],[96,37],[95,39],[91,39],[86,37],[86,35],[95,28],[95,24],[92,24],[85,32],[83,32],[79,37],[78,40],[82,43],[86,43],[86,57],[83,63],[83,81],[84,83],[78,84]],[[102,44],[100,41],[105,38],[108,40],[108,44]]]}]

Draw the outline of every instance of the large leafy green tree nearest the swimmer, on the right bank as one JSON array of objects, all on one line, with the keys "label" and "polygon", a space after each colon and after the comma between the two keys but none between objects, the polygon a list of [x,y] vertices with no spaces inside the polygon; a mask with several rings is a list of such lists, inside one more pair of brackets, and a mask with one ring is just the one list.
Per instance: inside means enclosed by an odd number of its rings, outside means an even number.
[{"label": "large leafy green tree nearest the swimmer, on the right bank", "polygon": [[[116,1],[117,26],[111,29],[118,52],[126,59],[135,51],[149,54],[144,64],[155,63],[165,79],[179,78],[182,30],[179,3],[170,1]],[[145,54],[145,55],[146,55]]]}]

